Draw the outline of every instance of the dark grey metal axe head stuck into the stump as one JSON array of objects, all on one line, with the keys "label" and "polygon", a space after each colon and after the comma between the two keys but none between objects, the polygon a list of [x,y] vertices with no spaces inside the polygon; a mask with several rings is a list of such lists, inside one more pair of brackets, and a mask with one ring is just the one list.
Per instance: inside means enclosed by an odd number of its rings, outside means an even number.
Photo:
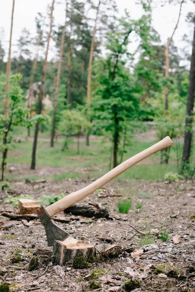
[{"label": "dark grey metal axe head stuck into the stump", "polygon": [[45,228],[48,246],[53,246],[55,239],[63,241],[67,237],[69,237],[69,234],[61,227],[59,227],[56,223],[54,223],[54,221],[48,215],[46,211],[46,206],[42,206],[37,209],[36,213]]}]

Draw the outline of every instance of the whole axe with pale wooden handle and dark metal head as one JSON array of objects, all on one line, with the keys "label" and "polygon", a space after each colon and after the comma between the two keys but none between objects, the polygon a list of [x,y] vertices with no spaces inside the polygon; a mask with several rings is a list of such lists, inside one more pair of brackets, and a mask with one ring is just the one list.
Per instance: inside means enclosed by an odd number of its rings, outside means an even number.
[{"label": "whole axe with pale wooden handle and dark metal head", "polygon": [[169,138],[169,136],[167,136],[158,143],[156,143],[155,145],[143,150],[142,152],[136,154],[135,156],[119,164],[117,167],[113,168],[111,171],[103,175],[97,181],[90,183],[89,185],[83,187],[82,189],[67,195],[66,197],[55,202],[51,206],[48,207],[42,206],[39,209],[37,209],[36,213],[45,228],[48,246],[54,245],[55,239],[63,241],[67,237],[69,237],[69,234],[65,230],[60,228],[56,223],[54,223],[51,220],[54,215],[58,214],[64,209],[72,206],[78,201],[89,196],[90,194],[98,190],[100,187],[112,181],[119,174],[129,169],[133,165],[137,164],[141,160],[149,157],[150,155],[154,154],[159,150],[171,147],[172,144],[173,144],[172,140]]}]

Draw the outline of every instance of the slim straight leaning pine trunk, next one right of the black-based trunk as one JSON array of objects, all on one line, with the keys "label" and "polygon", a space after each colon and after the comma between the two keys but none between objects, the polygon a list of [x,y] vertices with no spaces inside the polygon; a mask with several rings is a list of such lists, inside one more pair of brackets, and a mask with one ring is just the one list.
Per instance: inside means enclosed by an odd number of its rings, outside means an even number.
[{"label": "slim straight leaning pine trunk, next one right of the black-based trunk", "polygon": [[67,6],[68,6],[68,3],[66,2],[66,16],[65,16],[65,23],[64,23],[63,30],[62,30],[62,36],[61,36],[61,46],[60,46],[60,55],[59,55],[59,64],[58,64],[58,74],[57,74],[56,91],[55,91],[55,97],[54,97],[54,114],[53,114],[51,143],[50,143],[51,147],[54,147],[54,137],[55,137],[55,128],[56,128],[56,111],[57,111],[57,104],[58,104],[58,93],[59,93],[59,83],[60,83],[60,75],[61,75],[61,65],[62,65],[62,57],[63,57],[63,52],[64,52],[64,40],[65,40],[65,33],[66,33]]}]

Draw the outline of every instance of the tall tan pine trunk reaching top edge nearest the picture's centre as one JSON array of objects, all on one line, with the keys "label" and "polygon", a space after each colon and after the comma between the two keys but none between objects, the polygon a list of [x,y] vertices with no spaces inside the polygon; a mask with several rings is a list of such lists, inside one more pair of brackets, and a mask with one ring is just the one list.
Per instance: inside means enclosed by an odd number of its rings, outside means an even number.
[{"label": "tall tan pine trunk reaching top edge nearest the picture's centre", "polygon": [[[95,37],[96,37],[96,26],[97,26],[97,21],[98,21],[98,13],[99,13],[100,4],[101,4],[101,0],[99,0],[99,2],[98,2],[94,31],[93,31],[92,42],[91,42],[90,55],[89,55],[89,66],[88,66],[88,74],[87,74],[87,107],[88,107],[88,111],[89,111],[90,103],[91,103],[92,63],[93,63],[93,55],[94,55],[94,43],[95,43]],[[89,134],[86,136],[86,145],[89,146]]]}]

